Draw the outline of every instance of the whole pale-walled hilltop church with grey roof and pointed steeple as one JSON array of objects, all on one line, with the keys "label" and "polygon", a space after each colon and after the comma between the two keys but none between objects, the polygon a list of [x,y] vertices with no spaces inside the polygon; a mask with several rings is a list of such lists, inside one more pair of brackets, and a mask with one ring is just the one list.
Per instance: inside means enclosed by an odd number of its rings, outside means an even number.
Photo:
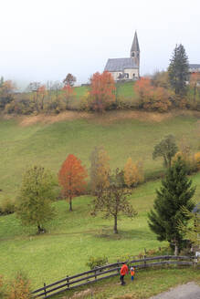
[{"label": "whole pale-walled hilltop church with grey roof and pointed steeple", "polygon": [[139,79],[140,47],[137,32],[132,41],[130,57],[109,59],[104,70],[110,72],[115,81]]}]

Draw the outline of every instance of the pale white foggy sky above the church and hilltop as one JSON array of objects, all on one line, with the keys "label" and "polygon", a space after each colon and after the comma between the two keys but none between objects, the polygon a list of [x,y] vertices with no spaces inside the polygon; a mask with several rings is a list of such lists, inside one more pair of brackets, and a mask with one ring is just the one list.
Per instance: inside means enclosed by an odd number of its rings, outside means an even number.
[{"label": "pale white foggy sky above the church and hilltop", "polygon": [[165,69],[175,44],[200,63],[200,0],[0,0],[0,76],[78,83],[108,58],[129,57],[137,30],[141,74]]}]

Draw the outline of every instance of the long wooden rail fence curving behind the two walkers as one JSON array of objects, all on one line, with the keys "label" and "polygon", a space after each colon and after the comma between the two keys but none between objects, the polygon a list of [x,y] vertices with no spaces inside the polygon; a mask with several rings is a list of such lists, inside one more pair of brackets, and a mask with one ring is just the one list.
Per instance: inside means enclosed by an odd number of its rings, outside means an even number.
[{"label": "long wooden rail fence curving behind the two walkers", "polygon": [[[128,263],[129,266],[134,266],[136,270],[154,266],[161,266],[163,264],[198,266],[195,257],[174,255],[162,255],[154,257],[144,256],[143,259],[132,260],[126,263]],[[85,284],[92,284],[109,277],[120,275],[121,264],[122,262],[107,264],[105,266],[98,267],[87,272],[79,273],[77,275],[66,276],[65,278],[53,284],[44,284],[43,287],[32,292],[33,298],[49,298],[56,294],[78,288],[79,286]]]}]

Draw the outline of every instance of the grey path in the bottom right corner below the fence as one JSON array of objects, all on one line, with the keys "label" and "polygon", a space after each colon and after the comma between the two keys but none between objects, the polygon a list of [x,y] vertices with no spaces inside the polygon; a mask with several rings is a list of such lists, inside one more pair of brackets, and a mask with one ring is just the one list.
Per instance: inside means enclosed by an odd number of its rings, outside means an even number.
[{"label": "grey path in the bottom right corner below the fence", "polygon": [[150,299],[200,299],[200,286],[195,283],[179,285]]}]

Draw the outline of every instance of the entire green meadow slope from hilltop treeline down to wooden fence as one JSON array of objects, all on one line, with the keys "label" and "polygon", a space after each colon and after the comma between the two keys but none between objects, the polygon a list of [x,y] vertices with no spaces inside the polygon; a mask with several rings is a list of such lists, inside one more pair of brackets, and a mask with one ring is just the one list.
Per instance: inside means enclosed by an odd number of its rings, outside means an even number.
[{"label": "entire green meadow slope from hilltop treeline down to wooden fence", "polygon": [[[163,161],[152,160],[153,146],[167,134],[177,144],[186,140],[192,151],[199,149],[199,115],[180,112],[168,115],[109,112],[102,116],[72,114],[57,122],[0,119],[0,200],[16,198],[28,165],[39,164],[57,175],[63,160],[73,153],[89,170],[91,150],[102,145],[111,158],[111,168],[122,168],[129,157],[141,160],[146,177],[163,171]],[[31,119],[31,118],[30,118]],[[26,119],[28,120],[28,119]],[[49,119],[48,119],[49,120]],[[28,121],[27,121],[28,123]],[[200,173],[192,177],[195,201],[200,197]],[[158,242],[148,228],[147,212],[153,207],[160,180],[148,181],[132,191],[132,206],[138,216],[132,221],[121,217],[119,235],[113,235],[113,221],[90,216],[91,197],[55,201],[55,218],[46,225],[47,233],[37,235],[34,227],[23,227],[15,214],[0,217],[0,273],[8,279],[17,270],[28,273],[33,288],[87,270],[90,255],[108,257],[109,262],[125,255],[143,253],[166,245]]]}]

